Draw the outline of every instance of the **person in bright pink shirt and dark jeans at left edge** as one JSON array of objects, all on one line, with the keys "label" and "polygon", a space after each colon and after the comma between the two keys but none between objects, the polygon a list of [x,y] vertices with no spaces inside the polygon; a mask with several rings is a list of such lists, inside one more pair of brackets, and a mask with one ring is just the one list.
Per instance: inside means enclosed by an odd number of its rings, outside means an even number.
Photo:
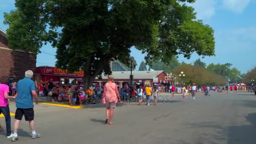
[{"label": "person in bright pink shirt and dark jeans at left edge", "polygon": [[6,136],[8,139],[13,137],[13,133],[11,133],[11,115],[8,99],[14,99],[15,96],[9,95],[9,86],[5,84],[0,84],[0,115],[3,113],[5,116],[6,123]]}]

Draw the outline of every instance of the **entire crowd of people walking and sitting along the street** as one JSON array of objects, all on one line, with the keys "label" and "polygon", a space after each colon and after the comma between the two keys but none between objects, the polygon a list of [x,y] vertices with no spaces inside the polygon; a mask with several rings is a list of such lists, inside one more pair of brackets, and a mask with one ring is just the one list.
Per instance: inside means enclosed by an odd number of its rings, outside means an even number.
[{"label": "entire crowd of people walking and sitting along the street", "polygon": [[[12,141],[18,139],[18,129],[20,122],[24,116],[25,121],[29,122],[29,127],[31,129],[32,139],[40,137],[40,134],[35,131],[34,124],[34,104],[38,104],[39,99],[43,95],[46,95],[48,99],[58,99],[59,101],[64,101],[68,99],[71,105],[76,105],[77,103],[82,105],[83,102],[86,103],[86,100],[89,97],[93,98],[93,103],[96,103],[94,96],[101,96],[101,103],[106,106],[106,120],[105,123],[112,125],[114,109],[117,102],[121,102],[126,98],[137,96],[139,100],[139,105],[141,105],[143,98],[145,97],[146,105],[150,104],[151,97],[153,97],[153,102],[157,105],[157,98],[159,95],[160,87],[157,85],[152,87],[150,84],[147,85],[136,85],[134,84],[131,88],[128,87],[128,84],[125,84],[123,88],[120,85],[114,82],[113,75],[109,75],[108,82],[104,85],[96,85],[94,89],[92,86],[89,86],[86,91],[80,85],[70,85],[70,86],[61,86],[58,89],[56,85],[53,85],[53,80],[43,83],[39,83],[39,95],[35,89],[35,82],[31,80],[33,77],[33,72],[28,70],[25,72],[25,78],[19,80],[18,83],[13,81],[12,83],[0,84],[0,114],[3,113],[6,121],[6,136],[11,138]],[[237,85],[226,85],[226,86],[196,86],[195,83],[192,85],[179,85],[181,88],[182,98],[185,99],[185,93],[189,91],[192,94],[192,99],[195,100],[196,91],[203,91],[209,95],[209,91],[215,91],[215,93],[237,93]],[[165,88],[164,88],[165,89]],[[175,85],[171,85],[165,91],[169,90],[171,93],[171,98],[174,98],[176,92]],[[242,88],[243,90],[243,88]],[[11,93],[11,94],[10,94]],[[16,112],[15,112],[15,123],[13,133],[11,133],[11,116],[9,109],[8,99],[16,99]],[[85,101],[84,101],[85,100]],[[3,130],[3,127],[0,125],[0,130]]]}]

